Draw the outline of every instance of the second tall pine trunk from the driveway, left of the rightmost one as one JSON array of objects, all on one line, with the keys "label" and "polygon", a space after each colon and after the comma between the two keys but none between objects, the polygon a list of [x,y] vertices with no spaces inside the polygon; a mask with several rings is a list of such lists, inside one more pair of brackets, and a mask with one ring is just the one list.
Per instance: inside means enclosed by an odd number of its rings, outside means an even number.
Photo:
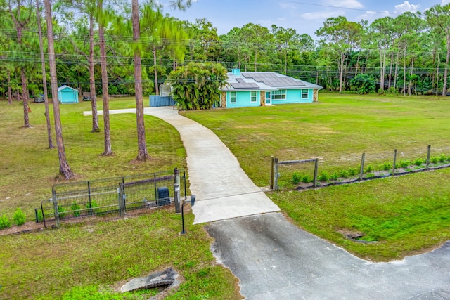
[{"label": "second tall pine trunk from the driveway, left of the rightmost one", "polygon": [[[103,0],[98,1],[98,11],[103,11]],[[106,69],[106,48],[105,48],[105,29],[103,22],[104,16],[100,17],[102,20],[98,22],[98,37],[100,39],[100,65],[101,65],[101,86],[103,93],[103,125],[105,132],[105,151],[102,155],[113,155],[111,149],[111,135],[110,135],[110,103],[108,91],[108,70]]]}]

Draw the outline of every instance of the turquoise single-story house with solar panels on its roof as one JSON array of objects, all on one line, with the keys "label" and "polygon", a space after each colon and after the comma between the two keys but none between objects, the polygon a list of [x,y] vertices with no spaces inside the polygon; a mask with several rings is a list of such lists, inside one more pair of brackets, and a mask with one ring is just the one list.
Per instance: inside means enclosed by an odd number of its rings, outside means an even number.
[{"label": "turquoise single-story house with solar panels on its roof", "polygon": [[322,86],[276,72],[228,74],[228,85],[221,89],[221,107],[266,106],[285,103],[312,103]]}]

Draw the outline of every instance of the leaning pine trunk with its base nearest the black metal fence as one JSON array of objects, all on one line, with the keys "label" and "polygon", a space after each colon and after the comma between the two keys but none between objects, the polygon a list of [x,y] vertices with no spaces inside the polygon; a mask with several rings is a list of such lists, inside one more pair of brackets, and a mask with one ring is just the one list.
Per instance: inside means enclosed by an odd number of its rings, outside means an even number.
[{"label": "leaning pine trunk with its base nearest the black metal fence", "polygon": [[65,149],[63,142],[63,127],[61,126],[59,100],[58,100],[58,79],[56,78],[56,58],[55,49],[53,47],[53,24],[51,19],[50,0],[44,0],[45,16],[47,22],[47,41],[49,45],[49,66],[50,66],[50,82],[51,95],[53,98],[53,115],[55,119],[56,145],[58,147],[59,158],[59,174],[66,179],[73,177],[73,172],[65,158]]}]

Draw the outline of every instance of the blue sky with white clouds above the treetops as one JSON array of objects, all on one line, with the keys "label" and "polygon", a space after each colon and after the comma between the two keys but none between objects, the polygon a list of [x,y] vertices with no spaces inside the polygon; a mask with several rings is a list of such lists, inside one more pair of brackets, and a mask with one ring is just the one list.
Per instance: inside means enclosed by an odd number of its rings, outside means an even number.
[{"label": "blue sky with white clouds above the treetops", "polygon": [[[410,2],[411,1],[411,2]],[[193,22],[207,18],[217,28],[218,34],[226,34],[233,27],[255,23],[264,27],[272,24],[294,28],[300,34],[314,32],[330,17],[343,15],[347,20],[372,22],[387,15],[395,18],[405,11],[420,11],[436,4],[448,4],[450,0],[193,0],[187,11],[172,11],[165,6],[164,13]],[[160,0],[167,4],[168,0]]]}]

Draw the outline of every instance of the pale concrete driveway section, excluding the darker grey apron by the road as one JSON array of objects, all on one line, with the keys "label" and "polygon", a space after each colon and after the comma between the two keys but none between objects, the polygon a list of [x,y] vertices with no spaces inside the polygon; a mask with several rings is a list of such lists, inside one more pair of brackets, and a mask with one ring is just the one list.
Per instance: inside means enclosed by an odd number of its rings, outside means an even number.
[{"label": "pale concrete driveway section, excluding the darker grey apron by the road", "polygon": [[[111,115],[123,113],[136,113],[136,109],[110,110]],[[197,197],[194,223],[280,210],[248,178],[238,159],[210,129],[179,115],[173,107],[147,107],[144,114],[162,119],[180,133],[186,149],[191,193]],[[103,115],[103,111],[98,115]]]}]

